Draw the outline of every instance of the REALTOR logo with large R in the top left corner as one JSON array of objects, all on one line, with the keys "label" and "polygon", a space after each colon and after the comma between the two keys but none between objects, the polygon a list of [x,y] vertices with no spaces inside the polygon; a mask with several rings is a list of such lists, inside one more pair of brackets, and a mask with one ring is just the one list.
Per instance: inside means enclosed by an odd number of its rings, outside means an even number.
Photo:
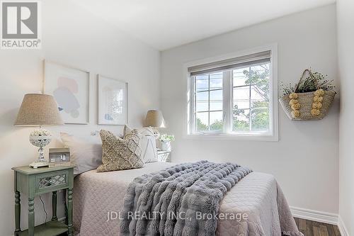
[{"label": "REALTOR logo with large R in the top left corner", "polygon": [[1,49],[40,48],[40,2],[1,2]]}]

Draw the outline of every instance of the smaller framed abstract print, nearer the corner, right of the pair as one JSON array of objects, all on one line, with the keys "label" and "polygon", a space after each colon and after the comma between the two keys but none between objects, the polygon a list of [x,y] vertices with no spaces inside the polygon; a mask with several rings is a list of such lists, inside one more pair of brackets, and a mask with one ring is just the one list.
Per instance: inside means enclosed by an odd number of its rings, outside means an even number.
[{"label": "smaller framed abstract print, nearer the corner, right of the pair", "polygon": [[97,75],[98,125],[127,123],[127,83]]}]

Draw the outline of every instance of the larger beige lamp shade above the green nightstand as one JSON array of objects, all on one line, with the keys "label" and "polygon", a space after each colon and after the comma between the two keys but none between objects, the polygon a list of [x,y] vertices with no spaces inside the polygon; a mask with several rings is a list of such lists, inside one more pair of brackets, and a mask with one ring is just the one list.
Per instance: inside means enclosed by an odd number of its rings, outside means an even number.
[{"label": "larger beige lamp shade above the green nightstand", "polygon": [[25,94],[15,125],[63,125],[57,102],[47,94]]}]

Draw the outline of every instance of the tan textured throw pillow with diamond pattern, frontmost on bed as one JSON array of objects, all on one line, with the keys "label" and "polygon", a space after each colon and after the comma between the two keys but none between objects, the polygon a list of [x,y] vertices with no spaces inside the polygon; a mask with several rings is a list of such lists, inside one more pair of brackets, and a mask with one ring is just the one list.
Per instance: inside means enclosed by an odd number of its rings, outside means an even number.
[{"label": "tan textured throw pillow with diamond pattern, frontmost on bed", "polygon": [[108,130],[101,130],[102,163],[97,172],[122,169],[136,169],[144,166],[140,158],[139,135],[130,133],[124,138],[117,137]]}]

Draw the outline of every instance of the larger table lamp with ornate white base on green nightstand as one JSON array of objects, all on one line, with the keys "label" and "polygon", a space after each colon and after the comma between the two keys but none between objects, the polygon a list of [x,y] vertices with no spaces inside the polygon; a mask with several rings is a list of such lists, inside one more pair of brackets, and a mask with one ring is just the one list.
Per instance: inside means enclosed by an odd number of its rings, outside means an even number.
[{"label": "larger table lamp with ornate white base on green nightstand", "polygon": [[33,168],[48,166],[48,162],[44,158],[43,147],[50,144],[52,135],[49,130],[42,129],[42,126],[64,125],[53,96],[25,94],[14,125],[40,127],[30,133],[30,143],[39,147],[39,157],[29,166]]}]

